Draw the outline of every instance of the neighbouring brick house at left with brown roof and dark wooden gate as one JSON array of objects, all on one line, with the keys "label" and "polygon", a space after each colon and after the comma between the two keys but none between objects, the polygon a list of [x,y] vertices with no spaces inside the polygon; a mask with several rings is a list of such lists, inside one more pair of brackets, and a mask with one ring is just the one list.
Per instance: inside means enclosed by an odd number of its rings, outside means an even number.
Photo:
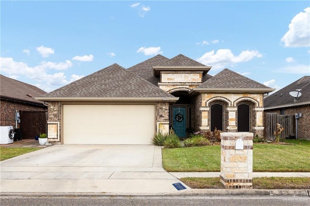
[{"label": "neighbouring brick house at left with brown roof and dark wooden gate", "polygon": [[[46,132],[46,118],[44,117],[47,105],[34,98],[46,93],[40,88],[0,74],[0,126],[14,126],[15,129],[22,129],[24,138]],[[17,127],[16,113],[20,115]],[[41,121],[37,119],[42,115]]]}]

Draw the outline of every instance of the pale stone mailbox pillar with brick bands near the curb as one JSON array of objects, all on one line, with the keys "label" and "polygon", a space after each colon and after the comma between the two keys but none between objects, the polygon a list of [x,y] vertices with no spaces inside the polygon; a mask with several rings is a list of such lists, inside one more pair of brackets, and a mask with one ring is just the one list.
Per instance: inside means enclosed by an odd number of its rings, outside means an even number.
[{"label": "pale stone mailbox pillar with brick bands near the curb", "polygon": [[252,188],[253,133],[221,132],[220,181],[225,189]]}]

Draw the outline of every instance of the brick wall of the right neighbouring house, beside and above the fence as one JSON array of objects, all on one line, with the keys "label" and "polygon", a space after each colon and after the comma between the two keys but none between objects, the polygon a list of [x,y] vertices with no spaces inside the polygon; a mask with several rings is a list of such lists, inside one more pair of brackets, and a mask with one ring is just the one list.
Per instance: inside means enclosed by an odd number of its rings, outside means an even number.
[{"label": "brick wall of the right neighbouring house, beside and above the fence", "polygon": [[[281,108],[265,110],[264,113],[280,114],[280,111]],[[284,108],[284,115],[294,115],[295,113],[302,113],[302,117],[298,119],[298,138],[310,138],[310,104]]]}]

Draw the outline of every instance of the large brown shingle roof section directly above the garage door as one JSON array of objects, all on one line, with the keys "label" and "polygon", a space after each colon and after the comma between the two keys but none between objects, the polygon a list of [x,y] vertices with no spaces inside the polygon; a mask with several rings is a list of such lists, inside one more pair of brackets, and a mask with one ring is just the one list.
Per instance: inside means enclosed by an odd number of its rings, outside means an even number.
[{"label": "large brown shingle roof section directly above the garage door", "polygon": [[173,102],[178,99],[143,78],[126,71],[120,65],[112,64],[37,99],[45,101],[162,101],[163,97],[168,97]]}]

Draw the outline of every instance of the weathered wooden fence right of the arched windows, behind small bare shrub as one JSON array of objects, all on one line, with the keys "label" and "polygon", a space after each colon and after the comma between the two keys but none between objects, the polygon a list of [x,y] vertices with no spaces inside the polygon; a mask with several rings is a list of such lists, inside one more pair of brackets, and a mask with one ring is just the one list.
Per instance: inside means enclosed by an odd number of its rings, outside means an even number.
[{"label": "weathered wooden fence right of the arched windows, behind small bare shrub", "polygon": [[264,115],[264,138],[267,140],[275,140],[274,132],[276,124],[279,123],[284,128],[281,132],[280,139],[295,136],[295,116],[294,115],[279,115],[277,113],[265,113]]}]

